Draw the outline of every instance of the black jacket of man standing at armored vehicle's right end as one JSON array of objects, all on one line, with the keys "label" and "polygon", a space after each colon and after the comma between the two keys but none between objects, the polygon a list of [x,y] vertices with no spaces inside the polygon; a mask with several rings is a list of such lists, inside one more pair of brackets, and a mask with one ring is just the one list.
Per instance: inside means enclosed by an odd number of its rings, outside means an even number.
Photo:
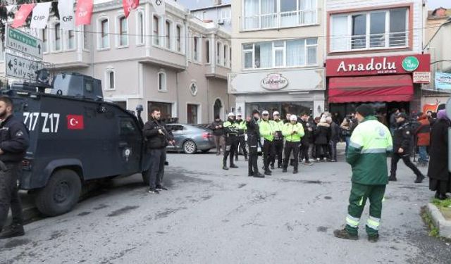
[{"label": "black jacket of man standing at armored vehicle's right end", "polygon": [[[164,134],[159,134],[159,129],[163,130]],[[150,118],[144,125],[144,137],[147,139],[148,149],[166,148],[168,141],[174,139],[171,130],[166,127],[166,124],[153,118]]]}]

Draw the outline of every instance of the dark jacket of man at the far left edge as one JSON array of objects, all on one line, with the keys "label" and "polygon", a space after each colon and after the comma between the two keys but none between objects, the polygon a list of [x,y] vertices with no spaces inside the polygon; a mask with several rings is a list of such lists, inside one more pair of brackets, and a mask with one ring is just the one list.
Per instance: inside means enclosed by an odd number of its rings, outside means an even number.
[{"label": "dark jacket of man at the far left edge", "polygon": [[0,155],[3,162],[21,162],[30,145],[30,135],[21,120],[10,115],[0,124]]}]

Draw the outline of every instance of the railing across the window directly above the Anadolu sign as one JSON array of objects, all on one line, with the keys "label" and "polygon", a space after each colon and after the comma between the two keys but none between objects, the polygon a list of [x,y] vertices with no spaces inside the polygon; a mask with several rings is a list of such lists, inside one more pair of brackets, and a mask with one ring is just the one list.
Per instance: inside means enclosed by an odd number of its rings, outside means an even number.
[{"label": "railing across the window directly above the Anadolu sign", "polygon": [[409,32],[330,37],[330,51],[393,49],[409,46]]}]

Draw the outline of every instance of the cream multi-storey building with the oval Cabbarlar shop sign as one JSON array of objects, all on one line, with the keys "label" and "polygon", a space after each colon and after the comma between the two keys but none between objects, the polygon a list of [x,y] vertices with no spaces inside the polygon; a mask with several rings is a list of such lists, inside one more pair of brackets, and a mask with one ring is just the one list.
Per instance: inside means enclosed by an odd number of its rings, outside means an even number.
[{"label": "cream multi-storey building with the oval Cabbarlar shop sign", "polygon": [[238,113],[325,110],[323,6],[323,0],[232,1],[228,91]]}]

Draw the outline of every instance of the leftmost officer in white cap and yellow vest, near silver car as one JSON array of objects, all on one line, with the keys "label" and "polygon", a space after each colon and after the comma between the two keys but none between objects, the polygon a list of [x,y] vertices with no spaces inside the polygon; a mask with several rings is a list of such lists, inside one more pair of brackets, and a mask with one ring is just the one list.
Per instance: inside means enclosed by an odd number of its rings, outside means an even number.
[{"label": "leftmost officer in white cap and yellow vest, near silver car", "polygon": [[233,163],[233,156],[238,145],[238,124],[235,120],[235,113],[229,113],[228,119],[224,122],[224,138],[226,139],[226,150],[224,151],[223,170],[228,170],[227,158],[230,156],[230,168],[238,168]]}]

